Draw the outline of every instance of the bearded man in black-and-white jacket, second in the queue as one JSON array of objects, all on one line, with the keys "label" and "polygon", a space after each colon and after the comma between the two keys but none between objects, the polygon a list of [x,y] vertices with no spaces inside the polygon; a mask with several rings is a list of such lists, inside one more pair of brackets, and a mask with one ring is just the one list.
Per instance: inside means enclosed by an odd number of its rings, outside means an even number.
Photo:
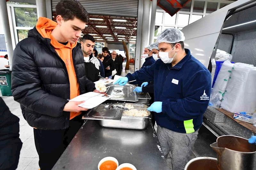
[{"label": "bearded man in black-and-white jacket, second in the queue", "polygon": [[92,82],[100,79],[100,61],[92,55],[95,40],[92,35],[85,34],[81,41],[84,55],[85,76]]}]

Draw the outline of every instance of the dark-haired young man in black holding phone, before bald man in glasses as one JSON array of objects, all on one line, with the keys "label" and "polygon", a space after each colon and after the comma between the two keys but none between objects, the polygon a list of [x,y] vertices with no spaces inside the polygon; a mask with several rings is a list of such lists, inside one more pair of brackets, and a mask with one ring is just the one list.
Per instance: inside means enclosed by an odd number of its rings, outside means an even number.
[{"label": "dark-haired young man in black holding phone, before bald man in glasses", "polygon": [[103,65],[105,68],[105,77],[112,78],[112,71],[115,70],[115,63],[112,58],[109,56],[109,50],[107,47],[102,48],[102,55],[104,57]]}]

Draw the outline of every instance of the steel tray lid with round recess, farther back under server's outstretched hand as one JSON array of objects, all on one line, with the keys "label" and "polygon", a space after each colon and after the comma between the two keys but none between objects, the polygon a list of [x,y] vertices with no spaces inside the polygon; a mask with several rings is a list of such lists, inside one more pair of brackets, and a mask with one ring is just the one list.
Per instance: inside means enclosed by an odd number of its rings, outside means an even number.
[{"label": "steel tray lid with round recess, farther back under server's outstretched hand", "polygon": [[109,100],[137,102],[139,100],[136,95],[136,92],[133,92],[133,90],[134,90],[134,85],[130,85],[130,84],[126,84],[124,86],[115,85],[108,88],[107,94],[112,95],[111,99]]}]

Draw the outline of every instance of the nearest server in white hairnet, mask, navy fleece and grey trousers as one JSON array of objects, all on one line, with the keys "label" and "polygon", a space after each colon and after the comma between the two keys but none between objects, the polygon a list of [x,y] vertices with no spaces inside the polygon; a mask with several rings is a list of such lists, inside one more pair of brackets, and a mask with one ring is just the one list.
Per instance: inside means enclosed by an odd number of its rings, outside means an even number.
[{"label": "nearest server in white hairnet, mask, navy fleece and grey trousers", "polygon": [[148,110],[155,112],[157,137],[166,158],[170,152],[173,170],[183,170],[192,158],[211,92],[211,73],[184,49],[184,40],[180,30],[165,29],[157,37],[161,60],[116,81],[154,80],[155,102]]}]

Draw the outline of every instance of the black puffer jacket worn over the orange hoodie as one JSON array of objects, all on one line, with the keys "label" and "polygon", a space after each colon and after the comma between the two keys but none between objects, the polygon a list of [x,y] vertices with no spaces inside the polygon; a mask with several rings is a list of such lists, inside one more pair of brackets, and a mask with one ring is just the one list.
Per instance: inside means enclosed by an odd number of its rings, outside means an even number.
[{"label": "black puffer jacket worn over the orange hoodie", "polygon": [[[67,129],[70,112],[63,108],[70,98],[65,63],[36,28],[20,41],[13,53],[12,95],[20,103],[28,124],[37,129]],[[72,49],[80,94],[91,92],[95,84],[85,77],[81,46]]]}]

